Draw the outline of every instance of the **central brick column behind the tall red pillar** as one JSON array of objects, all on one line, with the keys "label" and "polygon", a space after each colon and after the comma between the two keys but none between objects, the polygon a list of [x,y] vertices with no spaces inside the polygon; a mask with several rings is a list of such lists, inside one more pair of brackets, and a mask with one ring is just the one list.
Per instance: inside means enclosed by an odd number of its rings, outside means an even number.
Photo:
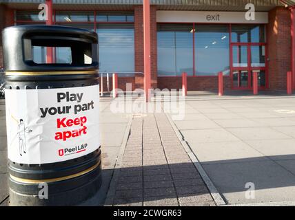
[{"label": "central brick column behind the tall red pillar", "polygon": [[[151,83],[156,88],[157,83],[157,56],[156,56],[156,7],[150,8],[151,29]],[[135,72],[143,72],[143,6],[134,7],[134,50]],[[143,74],[136,74],[135,87],[143,88]]]}]

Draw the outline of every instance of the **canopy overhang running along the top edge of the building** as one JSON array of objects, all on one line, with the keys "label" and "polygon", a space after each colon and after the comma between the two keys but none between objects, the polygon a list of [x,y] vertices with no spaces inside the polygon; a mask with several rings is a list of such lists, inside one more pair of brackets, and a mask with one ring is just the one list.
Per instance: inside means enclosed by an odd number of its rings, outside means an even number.
[{"label": "canopy overhang running along the top edge of the building", "polygon": [[[0,0],[9,8],[32,9],[45,0]],[[142,5],[143,0],[52,0],[55,10],[131,10]],[[295,5],[295,0],[150,0],[158,10],[245,11],[245,5],[253,3],[256,11],[267,12],[272,8]]]}]

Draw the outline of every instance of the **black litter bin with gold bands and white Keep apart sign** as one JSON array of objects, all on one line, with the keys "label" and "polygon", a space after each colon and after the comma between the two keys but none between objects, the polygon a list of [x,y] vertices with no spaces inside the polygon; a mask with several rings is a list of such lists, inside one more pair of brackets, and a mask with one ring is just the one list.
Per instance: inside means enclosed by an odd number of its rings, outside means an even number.
[{"label": "black litter bin with gold bands and white Keep apart sign", "polygon": [[[58,61],[34,56],[50,48]],[[3,30],[11,206],[72,206],[99,190],[97,54],[97,34],[88,30]]]}]

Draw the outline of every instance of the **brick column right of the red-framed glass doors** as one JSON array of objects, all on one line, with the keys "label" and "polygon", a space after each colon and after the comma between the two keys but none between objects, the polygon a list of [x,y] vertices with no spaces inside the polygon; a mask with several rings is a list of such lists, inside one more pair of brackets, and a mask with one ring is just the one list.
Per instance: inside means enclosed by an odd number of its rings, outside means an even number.
[{"label": "brick column right of the red-framed glass doors", "polygon": [[269,89],[286,89],[286,74],[291,70],[291,14],[286,8],[269,12],[267,45],[269,56]]}]

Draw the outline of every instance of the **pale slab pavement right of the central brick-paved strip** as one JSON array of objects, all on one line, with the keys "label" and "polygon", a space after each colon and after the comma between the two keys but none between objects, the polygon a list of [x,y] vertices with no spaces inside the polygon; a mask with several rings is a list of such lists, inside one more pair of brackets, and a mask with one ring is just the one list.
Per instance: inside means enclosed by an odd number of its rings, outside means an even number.
[{"label": "pale slab pavement right of the central brick-paved strip", "polygon": [[174,124],[228,204],[295,201],[294,96],[188,96]]}]

